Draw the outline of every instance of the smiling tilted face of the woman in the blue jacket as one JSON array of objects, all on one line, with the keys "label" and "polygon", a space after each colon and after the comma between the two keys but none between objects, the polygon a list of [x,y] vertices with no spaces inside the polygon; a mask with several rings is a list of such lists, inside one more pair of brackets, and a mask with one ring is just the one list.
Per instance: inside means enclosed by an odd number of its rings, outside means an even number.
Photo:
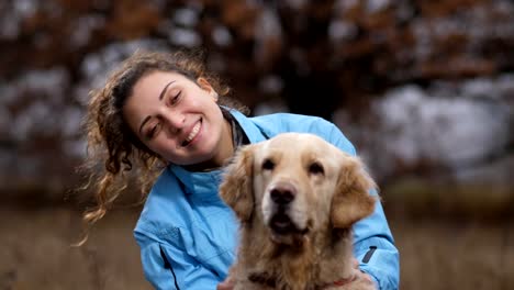
[{"label": "smiling tilted face of the woman in the blue jacket", "polygon": [[123,107],[135,135],[153,152],[177,165],[220,166],[233,153],[230,124],[217,93],[172,71],[144,75]]}]

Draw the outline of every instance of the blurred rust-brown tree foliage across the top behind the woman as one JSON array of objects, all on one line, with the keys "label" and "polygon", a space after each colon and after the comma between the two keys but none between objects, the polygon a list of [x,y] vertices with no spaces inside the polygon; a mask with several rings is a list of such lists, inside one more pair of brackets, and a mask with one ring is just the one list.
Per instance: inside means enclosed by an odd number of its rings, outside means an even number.
[{"label": "blurred rust-brown tree foliage across the top behind the woman", "polygon": [[2,1],[0,170],[27,176],[5,157],[16,147],[66,160],[32,170],[66,176],[83,154],[87,91],[138,47],[205,48],[250,109],[278,100],[333,119],[344,108],[350,122],[390,88],[512,71],[513,15],[507,0]]}]

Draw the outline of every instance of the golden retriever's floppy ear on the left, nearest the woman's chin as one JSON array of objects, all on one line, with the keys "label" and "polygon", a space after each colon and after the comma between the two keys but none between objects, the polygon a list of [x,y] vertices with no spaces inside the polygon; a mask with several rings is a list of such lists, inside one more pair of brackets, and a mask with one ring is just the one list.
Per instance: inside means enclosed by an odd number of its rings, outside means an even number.
[{"label": "golden retriever's floppy ear on the left, nearest the woman's chin", "polygon": [[234,210],[242,222],[250,219],[254,209],[254,149],[255,145],[246,145],[236,152],[220,185],[221,198]]}]

